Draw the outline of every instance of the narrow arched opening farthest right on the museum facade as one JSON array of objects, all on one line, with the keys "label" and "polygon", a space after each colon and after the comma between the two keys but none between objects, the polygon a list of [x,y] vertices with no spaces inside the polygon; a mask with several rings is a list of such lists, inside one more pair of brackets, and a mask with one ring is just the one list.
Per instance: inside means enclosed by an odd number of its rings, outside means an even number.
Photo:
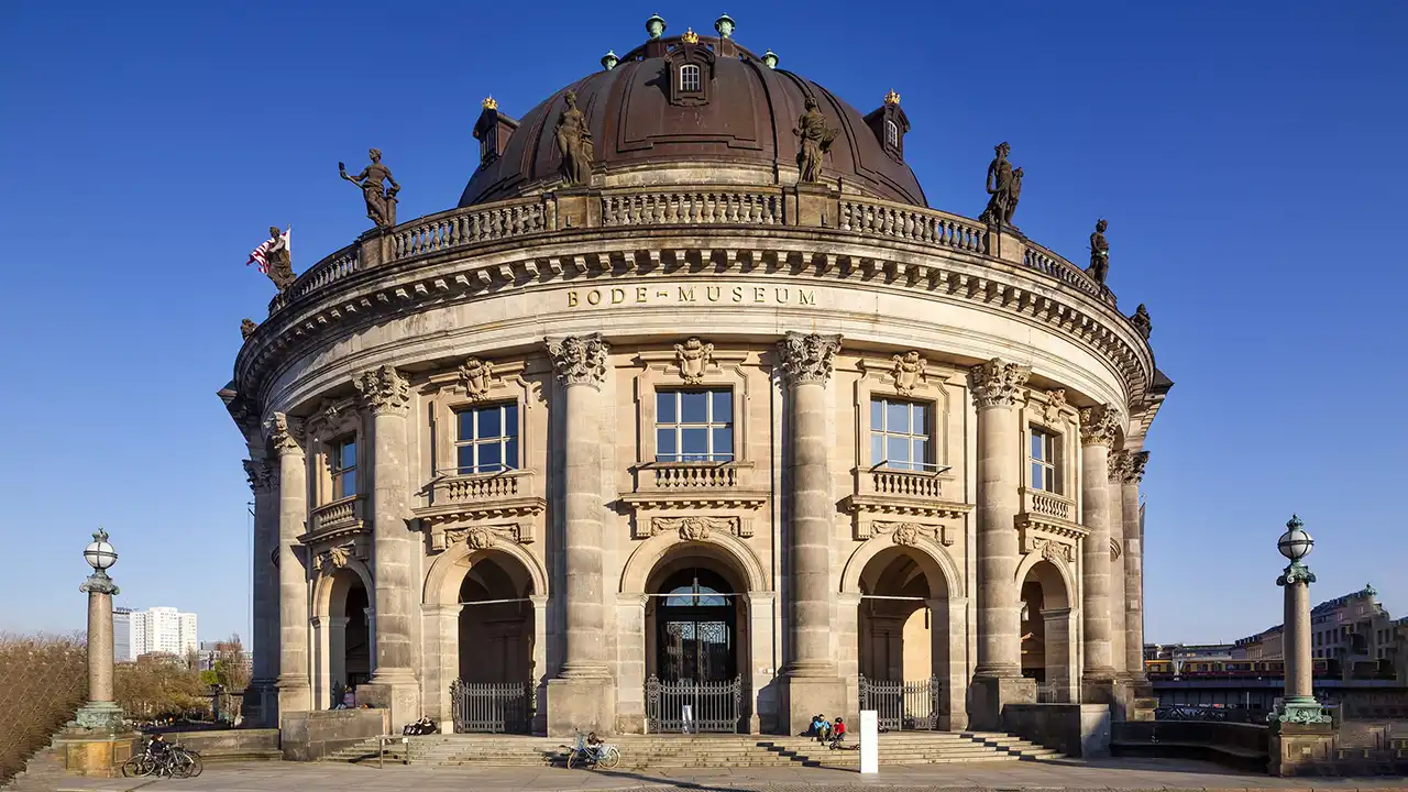
[{"label": "narrow arched opening farthest right on the museum facade", "polygon": [[1039,702],[1076,700],[1070,598],[1066,578],[1048,559],[1032,564],[1022,576],[1022,676],[1036,681]]}]

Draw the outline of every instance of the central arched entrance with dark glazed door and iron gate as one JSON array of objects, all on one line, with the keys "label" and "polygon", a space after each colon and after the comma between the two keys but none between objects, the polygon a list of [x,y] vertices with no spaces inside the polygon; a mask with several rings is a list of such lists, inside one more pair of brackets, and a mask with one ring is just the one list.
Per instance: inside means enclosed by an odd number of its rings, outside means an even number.
[{"label": "central arched entrance with dark glazed door and iron gate", "polygon": [[746,730],[745,576],[701,543],[674,545],[646,579],[645,705],[650,731]]}]

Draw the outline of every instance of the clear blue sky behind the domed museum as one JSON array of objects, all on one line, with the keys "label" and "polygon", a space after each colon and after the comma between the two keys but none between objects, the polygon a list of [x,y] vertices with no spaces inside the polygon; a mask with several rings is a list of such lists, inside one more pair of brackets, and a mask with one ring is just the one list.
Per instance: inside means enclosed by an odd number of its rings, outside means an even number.
[{"label": "clear blue sky behind the domed museum", "polygon": [[[935,207],[983,209],[993,145],[1017,220],[1073,261],[1110,220],[1111,285],[1177,382],[1149,447],[1148,636],[1280,621],[1298,512],[1316,599],[1408,614],[1408,3],[11,3],[0,48],[0,630],[83,626],[80,551],[121,605],[248,634],[244,445],[215,390],[270,285],[366,227],[337,162],[369,145],[400,214],[451,207],[479,101],[522,114],[645,38],[711,30],[856,107],[904,97]],[[1000,8],[1000,10],[998,10]],[[1394,471],[1400,471],[1395,474]]]}]

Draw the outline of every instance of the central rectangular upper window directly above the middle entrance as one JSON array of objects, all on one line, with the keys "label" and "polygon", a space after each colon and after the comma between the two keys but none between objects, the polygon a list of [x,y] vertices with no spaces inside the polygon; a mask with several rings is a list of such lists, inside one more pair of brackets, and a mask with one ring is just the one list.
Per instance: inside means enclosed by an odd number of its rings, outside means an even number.
[{"label": "central rectangular upper window directly above the middle entrance", "polygon": [[656,392],[655,461],[732,462],[734,392]]}]

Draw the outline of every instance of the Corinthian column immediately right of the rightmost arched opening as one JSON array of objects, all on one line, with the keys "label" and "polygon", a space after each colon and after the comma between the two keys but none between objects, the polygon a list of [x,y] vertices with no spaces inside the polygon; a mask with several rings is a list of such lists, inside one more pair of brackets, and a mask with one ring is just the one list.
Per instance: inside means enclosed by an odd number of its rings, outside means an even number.
[{"label": "Corinthian column immediately right of the rightmost arched opening", "polygon": [[1084,599],[1083,644],[1086,668],[1081,700],[1112,703],[1115,678],[1114,645],[1110,631],[1110,444],[1119,431],[1114,404],[1080,412],[1080,481],[1086,507],[1086,541],[1081,547]]}]

